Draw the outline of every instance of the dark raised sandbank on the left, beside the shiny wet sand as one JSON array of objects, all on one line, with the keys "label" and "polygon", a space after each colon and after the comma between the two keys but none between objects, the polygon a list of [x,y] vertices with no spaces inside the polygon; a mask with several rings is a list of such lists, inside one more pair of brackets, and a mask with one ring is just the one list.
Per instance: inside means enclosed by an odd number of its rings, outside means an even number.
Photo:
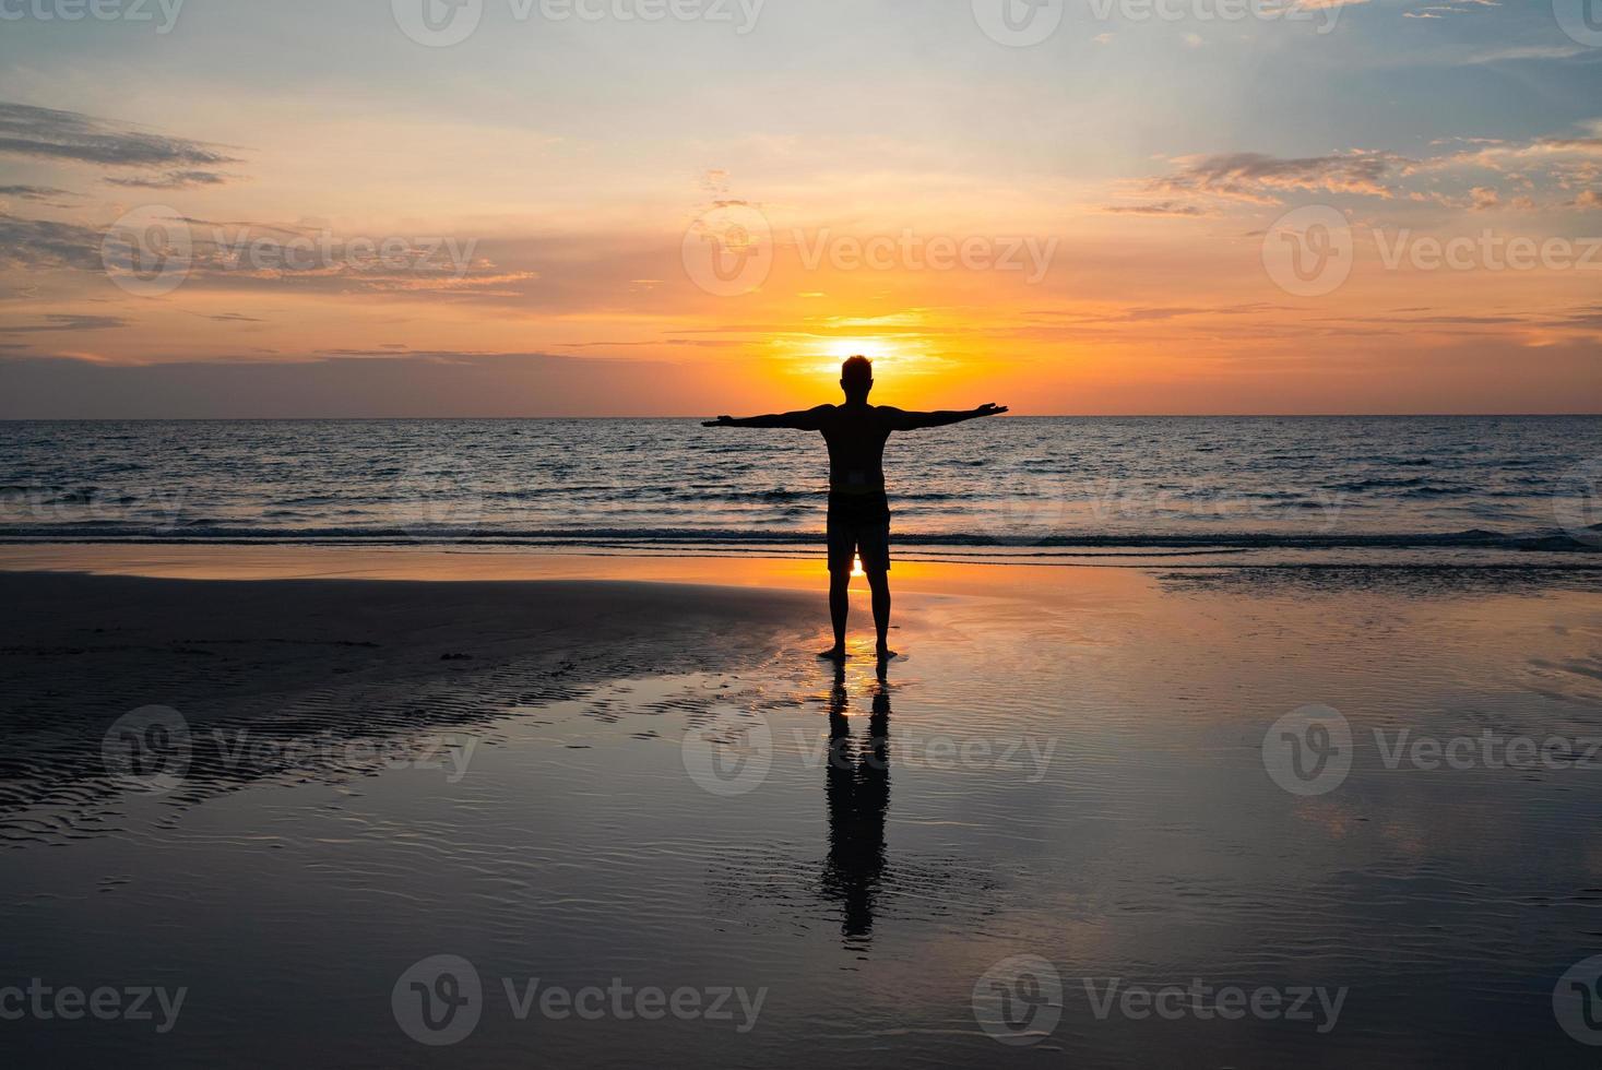
[{"label": "dark raised sandbank on the left, beside the shiny wet sand", "polygon": [[[293,770],[269,751],[308,738],[317,766],[338,770],[362,740],[482,726],[617,679],[750,665],[796,641],[806,607],[798,593],[638,581],[18,572],[0,572],[0,703],[13,711],[0,838],[21,841],[103,820],[101,743],[135,710],[181,713],[189,766],[167,794],[194,801]],[[253,730],[256,745],[207,750],[215,730]]]}]

